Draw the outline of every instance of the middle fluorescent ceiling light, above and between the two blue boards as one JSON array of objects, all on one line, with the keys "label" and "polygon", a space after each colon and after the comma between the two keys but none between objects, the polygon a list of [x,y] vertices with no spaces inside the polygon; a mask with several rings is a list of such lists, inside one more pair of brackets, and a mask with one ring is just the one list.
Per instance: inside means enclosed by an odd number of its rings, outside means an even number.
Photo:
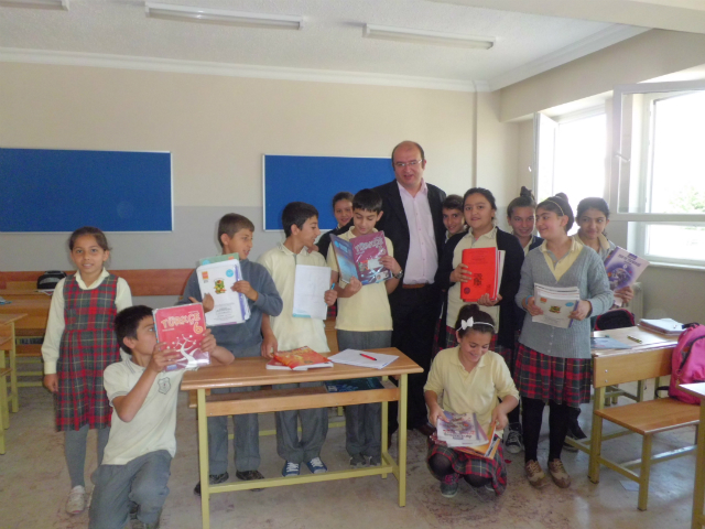
[{"label": "middle fluorescent ceiling light, above and between the two blue boards", "polygon": [[219,22],[235,25],[254,25],[260,28],[300,30],[304,18],[289,14],[247,13],[225,9],[192,8],[170,3],[144,2],[148,17],[171,20],[191,20],[193,22]]}]

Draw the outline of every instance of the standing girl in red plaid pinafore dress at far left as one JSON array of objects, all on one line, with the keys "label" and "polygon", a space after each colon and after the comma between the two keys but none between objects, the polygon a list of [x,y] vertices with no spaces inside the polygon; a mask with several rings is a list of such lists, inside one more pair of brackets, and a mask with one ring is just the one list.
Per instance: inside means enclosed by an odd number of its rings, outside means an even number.
[{"label": "standing girl in red plaid pinafore dress at far left", "polygon": [[102,387],[102,371],[120,360],[113,321],[132,305],[124,279],[105,269],[110,248],[98,228],[83,227],[68,239],[78,272],[56,284],[42,345],[44,386],[55,396],[56,430],[66,432],[64,452],[72,490],[66,511],[86,508],[86,439],[98,433],[98,465],[110,434],[112,409]]}]

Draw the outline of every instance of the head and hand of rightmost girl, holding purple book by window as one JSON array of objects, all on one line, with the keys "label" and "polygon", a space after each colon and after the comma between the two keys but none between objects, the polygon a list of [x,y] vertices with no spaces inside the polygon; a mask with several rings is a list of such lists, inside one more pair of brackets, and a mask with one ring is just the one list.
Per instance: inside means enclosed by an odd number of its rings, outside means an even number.
[{"label": "head and hand of rightmost girl, holding purple book by window", "polygon": [[[615,244],[607,239],[605,228],[609,224],[609,206],[605,198],[593,196],[583,198],[577,204],[577,238],[588,248],[593,248],[603,261],[615,249]],[[619,298],[623,303],[629,303],[634,296],[631,287],[625,287],[615,291],[615,298]]]}]

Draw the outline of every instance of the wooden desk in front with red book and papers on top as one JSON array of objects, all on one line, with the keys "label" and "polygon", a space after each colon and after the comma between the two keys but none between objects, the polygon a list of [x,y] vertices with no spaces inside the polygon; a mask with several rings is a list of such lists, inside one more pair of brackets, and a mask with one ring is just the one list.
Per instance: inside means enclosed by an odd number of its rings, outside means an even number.
[{"label": "wooden desk in front with red book and papers on top", "polygon": [[[210,495],[247,490],[251,488],[279,487],[302,483],[327,482],[349,477],[381,475],[392,473],[399,483],[399,506],[406,503],[406,393],[408,375],[423,373],[408,356],[395,348],[372,349],[372,352],[397,355],[399,358],[384,369],[336,364],[333,368],[310,369],[308,371],[282,371],[265,369],[264,358],[236,358],[229,366],[207,367],[184,375],[181,389],[197,392],[198,417],[198,458],[200,464],[200,506],[203,528],[210,527]],[[386,380],[398,375],[399,387]],[[311,382],[339,380],[346,378],[384,377],[384,389],[328,393],[325,388],[300,388],[296,390],[248,391],[241,393],[217,395],[206,398],[206,391],[213,388],[269,386],[275,384]],[[227,398],[227,400],[225,400]],[[399,400],[399,458],[394,462],[387,446],[388,402]],[[208,483],[208,427],[207,417],[258,413],[267,411],[302,410],[328,408],[335,406],[382,402],[382,464],[376,467],[335,471],[325,474],[311,474],[294,477],[275,477],[257,482],[209,485]],[[344,450],[343,446],[340,450]]]}]

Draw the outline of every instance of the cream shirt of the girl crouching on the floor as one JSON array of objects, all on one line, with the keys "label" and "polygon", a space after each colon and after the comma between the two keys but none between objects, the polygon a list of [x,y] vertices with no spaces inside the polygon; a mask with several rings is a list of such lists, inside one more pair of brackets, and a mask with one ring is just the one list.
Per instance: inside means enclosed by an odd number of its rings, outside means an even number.
[{"label": "cream shirt of the girl crouching on the floor", "polygon": [[[519,400],[505,359],[488,350],[468,373],[460,363],[459,346],[444,349],[433,360],[424,391],[441,397],[441,408],[452,413],[477,413],[477,419],[487,432],[497,399],[508,396]],[[497,431],[501,436],[502,432]]]}]

